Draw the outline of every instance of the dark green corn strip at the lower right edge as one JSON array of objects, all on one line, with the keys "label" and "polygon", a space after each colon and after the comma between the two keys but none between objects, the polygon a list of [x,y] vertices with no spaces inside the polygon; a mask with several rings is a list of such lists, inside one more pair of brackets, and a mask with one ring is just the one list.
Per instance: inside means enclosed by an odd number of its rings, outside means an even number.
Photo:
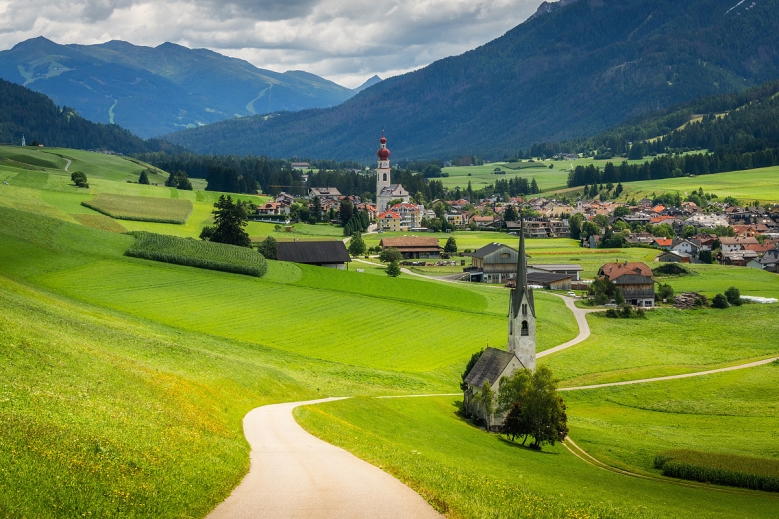
[{"label": "dark green corn strip at the lower right edge", "polygon": [[655,468],[672,478],[779,492],[779,460],[673,450],[655,456]]}]

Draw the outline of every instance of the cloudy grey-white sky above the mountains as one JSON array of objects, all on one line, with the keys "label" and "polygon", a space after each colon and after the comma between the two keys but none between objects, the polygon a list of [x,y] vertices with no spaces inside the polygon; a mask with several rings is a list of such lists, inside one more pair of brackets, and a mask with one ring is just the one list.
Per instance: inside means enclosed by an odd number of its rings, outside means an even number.
[{"label": "cloudy grey-white sky above the mountains", "polygon": [[542,0],[0,0],[0,50],[166,41],[354,88],[462,54],[503,35]]}]

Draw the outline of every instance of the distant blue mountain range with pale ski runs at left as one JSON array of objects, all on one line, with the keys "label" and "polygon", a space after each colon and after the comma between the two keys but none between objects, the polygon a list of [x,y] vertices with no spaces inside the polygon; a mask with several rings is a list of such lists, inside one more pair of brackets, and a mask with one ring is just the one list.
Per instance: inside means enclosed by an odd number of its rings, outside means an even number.
[{"label": "distant blue mountain range with pale ski runs at left", "polygon": [[263,70],[173,43],[59,45],[43,37],[0,52],[0,78],[144,138],[239,116],[335,106],[381,81],[374,76],[349,89],[308,72]]}]

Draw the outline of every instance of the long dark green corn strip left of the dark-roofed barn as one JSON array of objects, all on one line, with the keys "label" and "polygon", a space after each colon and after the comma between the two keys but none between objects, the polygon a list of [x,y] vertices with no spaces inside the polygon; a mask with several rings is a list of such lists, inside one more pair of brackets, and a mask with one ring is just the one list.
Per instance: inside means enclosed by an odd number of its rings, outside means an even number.
[{"label": "long dark green corn strip left of the dark-roofed barn", "polygon": [[133,258],[256,277],[268,270],[265,258],[254,249],[143,231],[131,234],[135,243],[125,254]]}]

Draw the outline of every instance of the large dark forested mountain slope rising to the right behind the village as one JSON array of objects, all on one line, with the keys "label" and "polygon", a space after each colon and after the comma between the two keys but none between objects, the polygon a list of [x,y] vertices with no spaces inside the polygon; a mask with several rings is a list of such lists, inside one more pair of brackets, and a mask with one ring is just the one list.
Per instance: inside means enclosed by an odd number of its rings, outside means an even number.
[{"label": "large dark forested mountain slope rising to the right behind the village", "polygon": [[326,110],[169,136],[198,152],[501,158],[779,77],[779,0],[578,0]]}]

